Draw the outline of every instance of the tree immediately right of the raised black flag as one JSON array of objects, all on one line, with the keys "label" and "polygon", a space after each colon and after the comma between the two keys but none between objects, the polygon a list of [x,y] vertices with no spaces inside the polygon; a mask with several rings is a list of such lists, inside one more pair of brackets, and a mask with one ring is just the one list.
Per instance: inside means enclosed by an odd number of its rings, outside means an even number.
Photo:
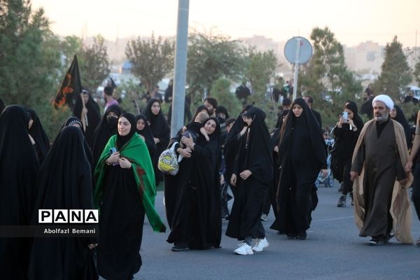
[{"label": "tree immediately right of the raised black flag", "polygon": [[111,72],[111,63],[104,43],[104,37],[97,35],[93,38],[92,45],[82,49],[80,77],[83,87],[90,92],[96,92],[97,87]]}]

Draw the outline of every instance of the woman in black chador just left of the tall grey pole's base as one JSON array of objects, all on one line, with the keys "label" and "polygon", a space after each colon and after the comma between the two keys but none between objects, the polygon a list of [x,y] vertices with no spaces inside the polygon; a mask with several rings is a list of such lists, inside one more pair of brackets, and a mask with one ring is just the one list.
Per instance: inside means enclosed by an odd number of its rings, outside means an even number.
[{"label": "woman in black chador just left of the tall grey pole's base", "polygon": [[[156,147],[158,148],[158,158],[160,154],[167,148],[170,139],[171,129],[169,128],[168,122],[162,113],[160,108],[160,101],[158,99],[151,99],[144,111],[149,124],[151,125],[151,131]],[[153,170],[155,171],[156,186],[159,185],[163,179],[162,172],[158,169],[158,161],[153,162]]]}]

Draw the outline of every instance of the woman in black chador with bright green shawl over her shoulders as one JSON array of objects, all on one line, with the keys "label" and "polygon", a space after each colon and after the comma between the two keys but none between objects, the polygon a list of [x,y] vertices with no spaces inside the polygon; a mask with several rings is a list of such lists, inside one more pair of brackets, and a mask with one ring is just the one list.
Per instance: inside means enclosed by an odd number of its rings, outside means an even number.
[{"label": "woman in black chador with bright green shawl over her shoulders", "polygon": [[[115,148],[116,152],[111,153]],[[155,210],[155,174],[148,149],[130,113],[118,119],[94,172],[94,204],[100,209],[97,268],[105,279],[132,279],[141,267],[144,215],[153,230],[165,232]]]}]

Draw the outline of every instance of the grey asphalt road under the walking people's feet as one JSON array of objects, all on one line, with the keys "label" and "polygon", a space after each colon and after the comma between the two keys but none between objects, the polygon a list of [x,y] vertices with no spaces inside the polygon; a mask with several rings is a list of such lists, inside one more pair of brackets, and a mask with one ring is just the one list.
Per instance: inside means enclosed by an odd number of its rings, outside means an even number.
[{"label": "grey asphalt road under the walking people's feet", "polygon": [[[337,183],[336,183],[337,185]],[[163,193],[156,207],[162,218]],[[337,208],[337,187],[318,190],[307,240],[288,240],[265,225],[269,247],[253,255],[235,255],[239,241],[224,235],[222,248],[207,251],[172,252],[168,232],[156,233],[144,225],[141,248],[143,266],[134,279],[420,279],[420,248],[398,244],[391,239],[384,246],[367,246],[367,237],[358,237],[353,207]],[[349,202],[349,201],[348,201]],[[420,236],[420,222],[413,210],[412,234]]]}]

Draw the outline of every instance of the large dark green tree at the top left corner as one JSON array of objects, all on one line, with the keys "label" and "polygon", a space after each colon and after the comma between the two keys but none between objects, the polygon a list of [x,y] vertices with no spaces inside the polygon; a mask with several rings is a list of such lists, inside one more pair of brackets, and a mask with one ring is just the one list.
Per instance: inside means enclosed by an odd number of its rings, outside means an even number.
[{"label": "large dark green tree at the top left corner", "polygon": [[35,109],[53,139],[69,112],[54,112],[60,53],[43,9],[30,1],[0,1],[0,96]]}]

